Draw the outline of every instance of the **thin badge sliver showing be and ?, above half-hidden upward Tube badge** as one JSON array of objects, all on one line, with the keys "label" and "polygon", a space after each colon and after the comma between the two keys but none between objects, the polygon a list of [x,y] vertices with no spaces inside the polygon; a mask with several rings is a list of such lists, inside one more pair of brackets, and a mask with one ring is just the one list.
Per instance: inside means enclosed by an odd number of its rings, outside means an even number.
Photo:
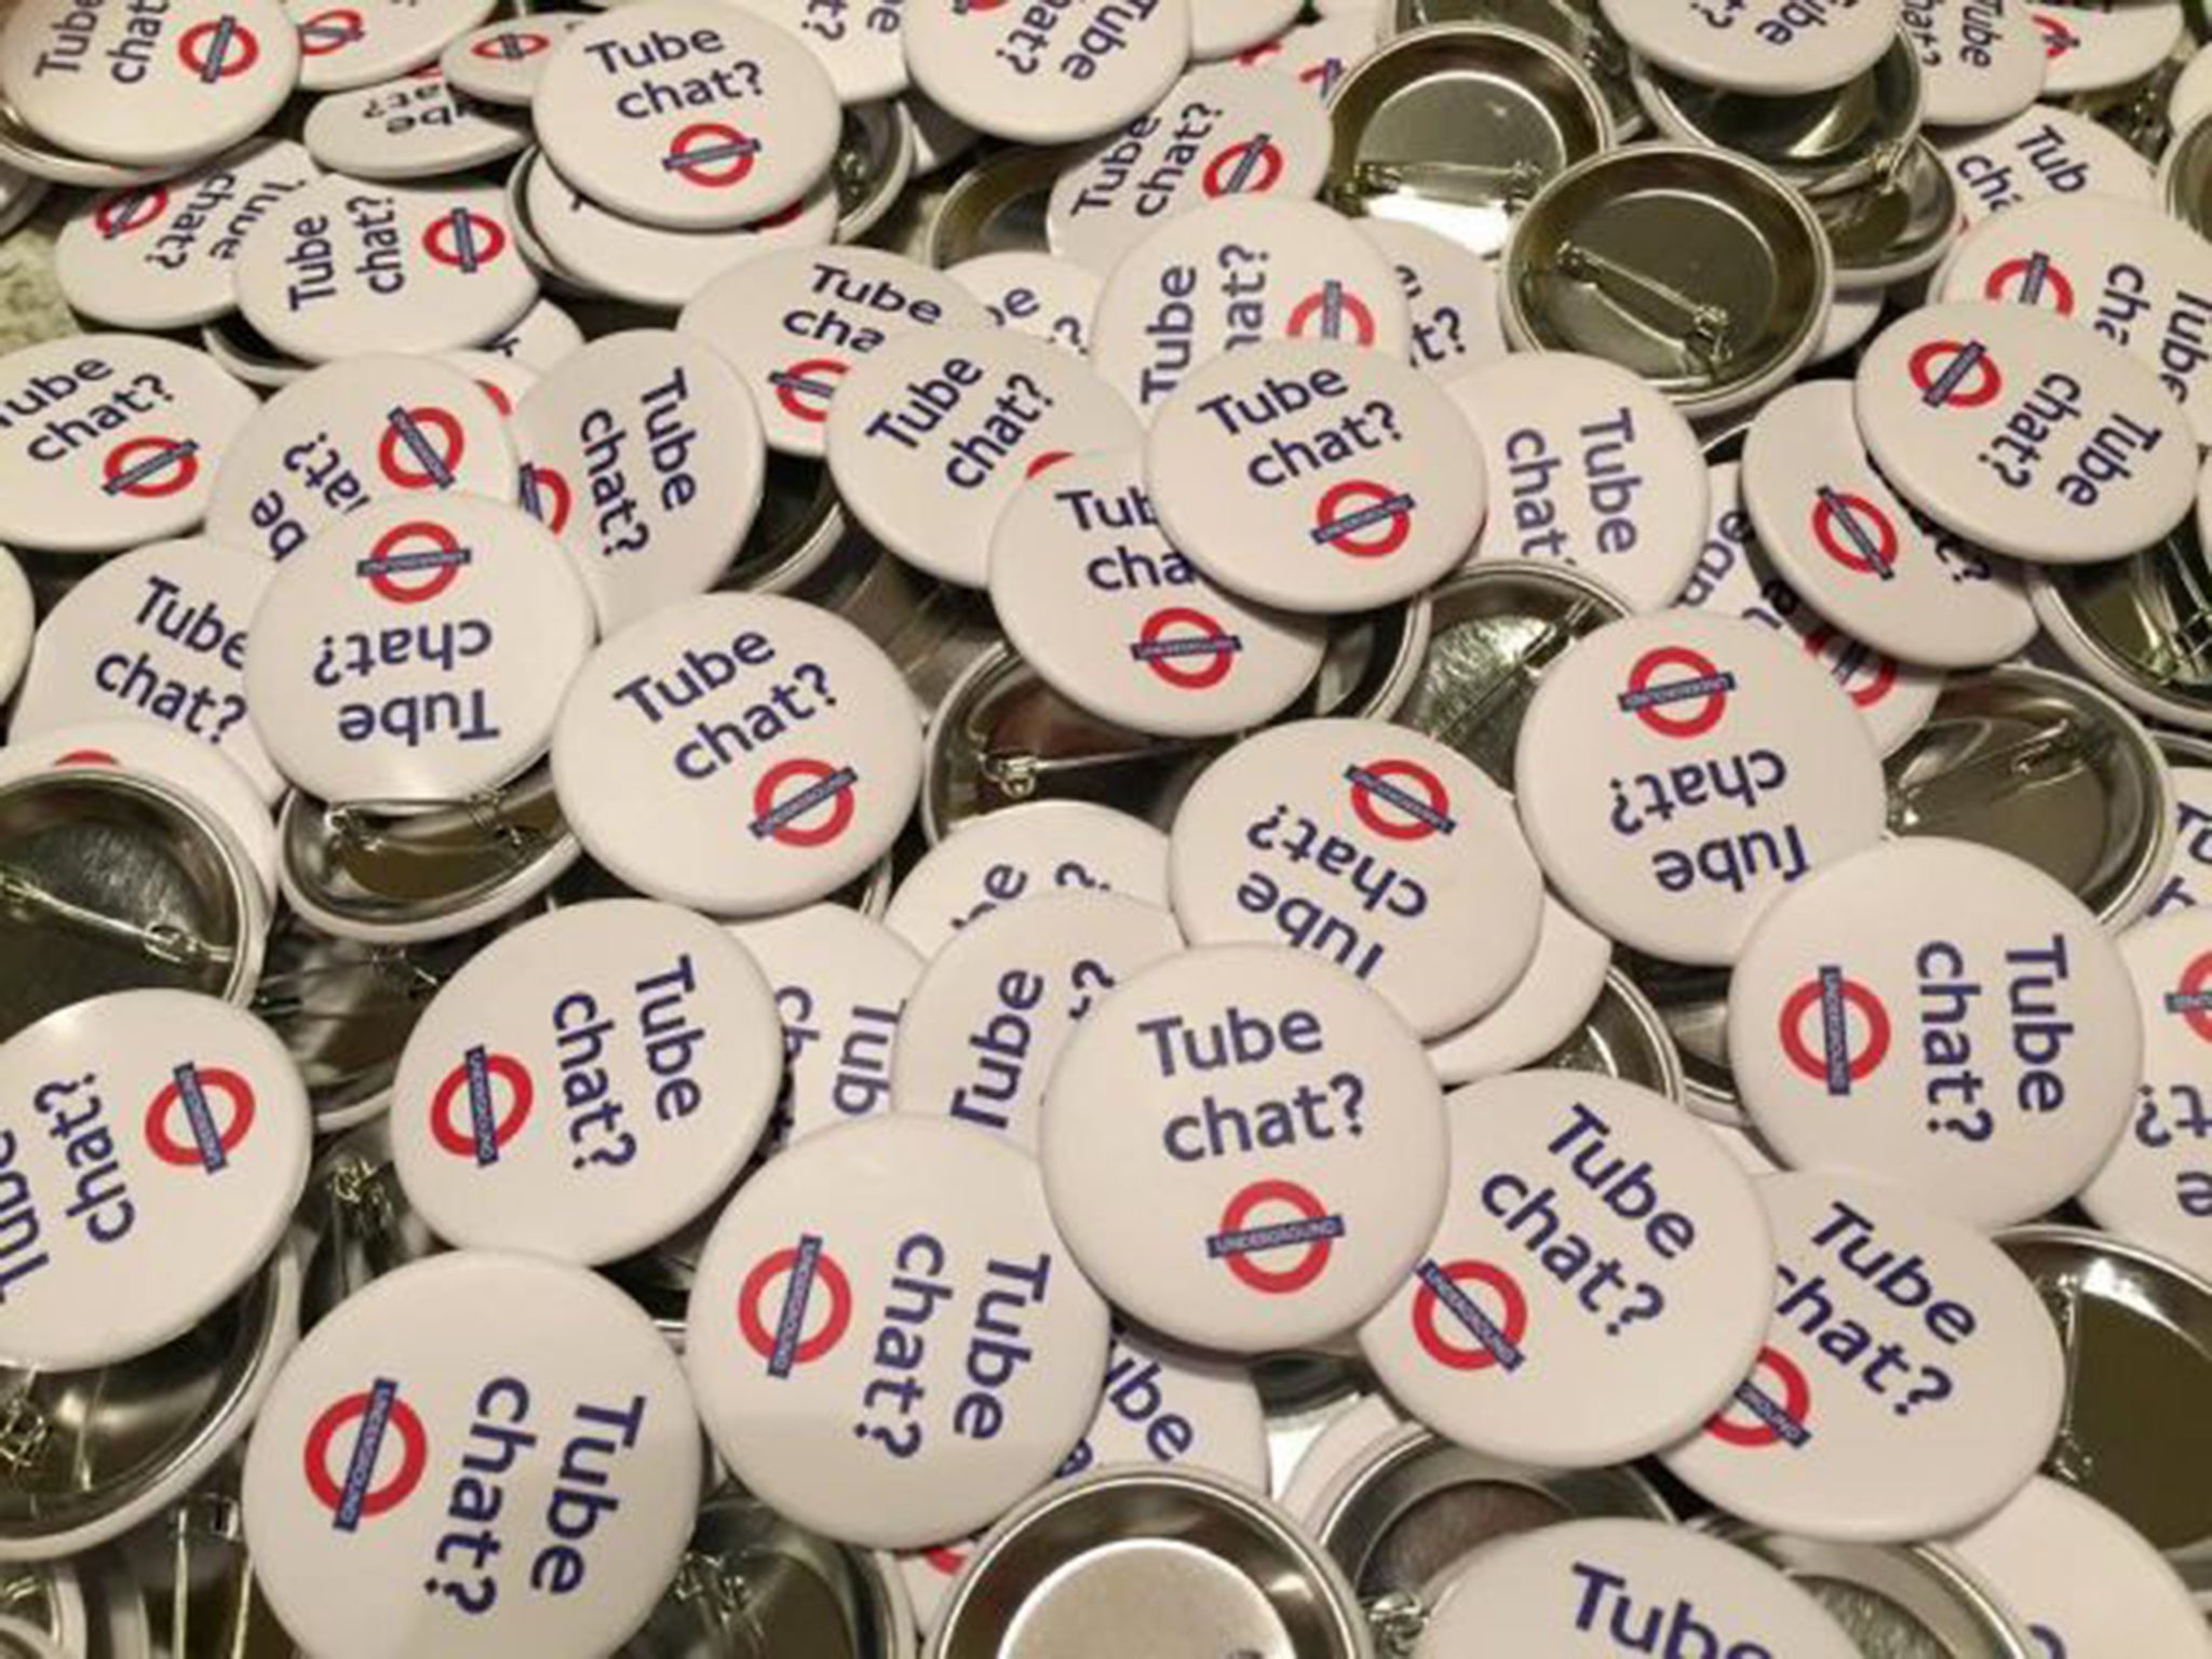
[{"label": "thin badge sliver showing be and ?, above half-hidden upward Tube badge", "polygon": [[907,872],[885,927],[931,958],[1002,905],[1108,891],[1168,905],[1168,838],[1088,801],[1031,801],[964,823]]}]

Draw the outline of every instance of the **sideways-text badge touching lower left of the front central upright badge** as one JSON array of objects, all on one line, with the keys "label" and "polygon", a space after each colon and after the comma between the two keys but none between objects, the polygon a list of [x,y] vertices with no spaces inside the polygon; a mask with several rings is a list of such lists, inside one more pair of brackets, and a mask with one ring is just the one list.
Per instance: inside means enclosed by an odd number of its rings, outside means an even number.
[{"label": "sideways-text badge touching lower left of the front central upright badge", "polygon": [[916,1548],[995,1520],[1068,1455],[1099,1398],[1106,1303],[1026,1152],[894,1113],[739,1188],[684,1365],[748,1489],[832,1537]]}]

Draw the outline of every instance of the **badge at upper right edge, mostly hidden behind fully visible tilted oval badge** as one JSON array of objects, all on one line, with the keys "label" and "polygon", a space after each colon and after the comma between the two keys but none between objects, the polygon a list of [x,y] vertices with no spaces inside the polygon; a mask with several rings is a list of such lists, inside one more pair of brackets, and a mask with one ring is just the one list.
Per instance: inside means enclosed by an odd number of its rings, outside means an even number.
[{"label": "badge at upper right edge, mostly hidden behind fully visible tilted oval badge", "polygon": [[2212,246],[2179,219],[2132,201],[2031,201],[1960,241],[1942,299],[2035,305],[2097,330],[2212,442]]}]

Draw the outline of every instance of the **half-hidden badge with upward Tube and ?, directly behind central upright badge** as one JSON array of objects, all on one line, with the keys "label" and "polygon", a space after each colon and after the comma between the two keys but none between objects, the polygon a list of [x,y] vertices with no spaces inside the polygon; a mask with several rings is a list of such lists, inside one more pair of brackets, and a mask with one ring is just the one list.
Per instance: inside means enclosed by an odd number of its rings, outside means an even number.
[{"label": "half-hidden badge with upward Tube and ?, directly behind central upright badge", "polygon": [[1033,1152],[1046,1077],[1077,1024],[1179,949],[1168,911],[1121,894],[1051,894],[975,920],[914,987],[891,1057],[891,1106]]}]

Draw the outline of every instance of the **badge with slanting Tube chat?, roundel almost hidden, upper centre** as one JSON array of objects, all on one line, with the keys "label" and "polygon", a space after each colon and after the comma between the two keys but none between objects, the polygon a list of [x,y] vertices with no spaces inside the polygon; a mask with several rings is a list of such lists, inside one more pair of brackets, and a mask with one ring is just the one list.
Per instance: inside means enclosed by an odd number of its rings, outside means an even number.
[{"label": "badge with slanting Tube chat?, roundel almost hidden, upper centre", "polygon": [[830,407],[845,511],[940,582],[984,586],[991,531],[1024,480],[1141,438],[1088,365],[1029,334],[914,330],[860,358]]}]

